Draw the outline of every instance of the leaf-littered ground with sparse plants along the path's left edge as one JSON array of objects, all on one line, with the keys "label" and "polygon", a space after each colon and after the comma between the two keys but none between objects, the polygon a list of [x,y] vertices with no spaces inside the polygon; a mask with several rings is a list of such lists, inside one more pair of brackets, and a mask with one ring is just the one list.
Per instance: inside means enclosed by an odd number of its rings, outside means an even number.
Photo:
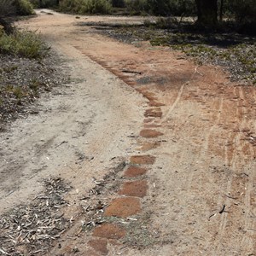
[{"label": "leaf-littered ground with sparse plants along the path's left edge", "polygon": [[66,82],[56,71],[59,62],[52,52],[40,61],[0,54],[0,132],[10,120],[30,113],[29,106],[43,91]]}]

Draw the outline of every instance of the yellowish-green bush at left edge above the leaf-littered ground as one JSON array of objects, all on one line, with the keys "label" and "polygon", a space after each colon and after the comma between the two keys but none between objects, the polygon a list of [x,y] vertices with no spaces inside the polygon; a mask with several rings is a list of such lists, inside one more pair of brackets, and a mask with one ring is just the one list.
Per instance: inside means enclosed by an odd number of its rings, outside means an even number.
[{"label": "yellowish-green bush at left edge above the leaf-littered ground", "polygon": [[18,55],[29,59],[42,58],[44,55],[44,43],[34,32],[15,32],[0,37],[0,53]]}]

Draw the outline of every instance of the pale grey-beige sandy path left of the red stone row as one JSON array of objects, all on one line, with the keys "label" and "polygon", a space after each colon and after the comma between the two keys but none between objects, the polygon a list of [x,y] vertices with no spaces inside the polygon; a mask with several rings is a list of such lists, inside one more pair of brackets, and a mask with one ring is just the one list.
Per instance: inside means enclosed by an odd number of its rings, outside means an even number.
[{"label": "pale grey-beige sandy path left of the red stone row", "polygon": [[[70,19],[64,20],[69,24]],[[100,178],[113,157],[129,153],[132,142],[127,136],[141,125],[142,96],[66,44],[67,35],[73,36],[65,30],[65,23],[59,35],[55,26],[49,27],[58,38],[53,47],[66,59],[64,72],[70,74],[72,83],[44,96],[37,116],[16,121],[9,133],[2,134],[1,212],[26,201],[40,189],[38,179],[49,175],[75,176],[73,183],[79,186],[82,175],[83,185],[90,188],[94,185],[91,177]],[[132,107],[131,97],[136,102]]]}]

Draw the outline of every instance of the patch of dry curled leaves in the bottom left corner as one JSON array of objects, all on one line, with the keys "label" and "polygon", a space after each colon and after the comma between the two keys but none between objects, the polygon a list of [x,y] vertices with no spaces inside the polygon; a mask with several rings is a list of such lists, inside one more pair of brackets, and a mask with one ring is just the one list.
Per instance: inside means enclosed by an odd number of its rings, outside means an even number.
[{"label": "patch of dry curled leaves in the bottom left corner", "polygon": [[0,217],[0,254],[44,254],[71,225],[61,208],[71,187],[60,177],[43,181],[44,192],[28,205],[20,205]]}]

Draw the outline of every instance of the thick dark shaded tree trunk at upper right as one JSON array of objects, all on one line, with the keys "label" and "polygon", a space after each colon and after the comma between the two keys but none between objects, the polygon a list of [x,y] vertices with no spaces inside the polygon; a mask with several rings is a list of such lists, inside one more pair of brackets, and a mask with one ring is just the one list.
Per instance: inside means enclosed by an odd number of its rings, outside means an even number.
[{"label": "thick dark shaded tree trunk at upper right", "polygon": [[197,23],[202,26],[215,26],[218,21],[218,0],[195,0]]}]

